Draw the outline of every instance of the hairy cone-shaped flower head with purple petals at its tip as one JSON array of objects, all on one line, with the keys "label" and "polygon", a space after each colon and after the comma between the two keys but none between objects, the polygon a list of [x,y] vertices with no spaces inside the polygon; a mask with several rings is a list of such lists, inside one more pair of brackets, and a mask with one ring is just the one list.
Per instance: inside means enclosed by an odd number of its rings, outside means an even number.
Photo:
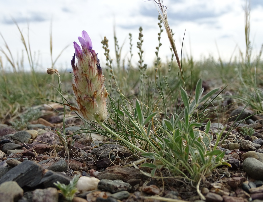
[{"label": "hairy cone-shaped flower head with purple petals at its tip", "polygon": [[[96,52],[92,49],[91,39],[86,31],[78,37],[81,47],[73,42],[75,54],[71,60],[73,69],[72,89],[77,101],[76,110],[88,121],[103,122],[108,118],[105,88],[105,77],[99,64]],[[77,62],[75,62],[75,57]]]}]

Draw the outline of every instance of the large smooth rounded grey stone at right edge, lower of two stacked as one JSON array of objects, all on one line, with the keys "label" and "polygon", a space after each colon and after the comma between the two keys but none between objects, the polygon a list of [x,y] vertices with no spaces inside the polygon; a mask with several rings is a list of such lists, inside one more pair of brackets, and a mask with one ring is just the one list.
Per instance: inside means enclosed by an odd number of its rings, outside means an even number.
[{"label": "large smooth rounded grey stone at right edge, lower of two stacked", "polygon": [[263,180],[263,163],[248,157],[243,162],[243,170],[255,180]]}]

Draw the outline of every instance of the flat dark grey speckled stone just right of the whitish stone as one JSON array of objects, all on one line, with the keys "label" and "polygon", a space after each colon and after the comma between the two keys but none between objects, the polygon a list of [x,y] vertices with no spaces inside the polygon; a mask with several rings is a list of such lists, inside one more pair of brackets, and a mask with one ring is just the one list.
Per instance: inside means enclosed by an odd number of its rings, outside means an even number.
[{"label": "flat dark grey speckled stone just right of the whitish stone", "polygon": [[110,193],[116,193],[119,191],[129,191],[132,186],[122,180],[100,180],[98,189],[103,191],[109,191]]}]

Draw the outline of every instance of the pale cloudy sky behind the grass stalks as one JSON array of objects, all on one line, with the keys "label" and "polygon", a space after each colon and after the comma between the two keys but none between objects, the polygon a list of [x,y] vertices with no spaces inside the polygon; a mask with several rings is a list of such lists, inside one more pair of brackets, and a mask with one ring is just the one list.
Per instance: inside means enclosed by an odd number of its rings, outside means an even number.
[{"label": "pale cloudy sky behind the grass stalks", "polygon": [[[209,56],[229,61],[231,55],[245,52],[245,0],[163,0],[168,8],[168,22],[175,32],[178,52],[185,32],[183,57],[193,56],[195,61]],[[148,66],[156,59],[158,45],[158,11],[154,1],[142,0],[0,0],[0,33],[8,44],[15,61],[21,61],[23,45],[17,22],[26,37],[29,34],[31,51],[34,53],[38,69],[45,71],[51,66],[50,27],[52,27],[53,60],[68,46],[55,64],[57,69],[71,68],[74,54],[73,41],[78,42],[83,30],[87,31],[98,53],[101,66],[105,65],[101,41],[109,40],[110,57],[115,59],[114,27],[122,59],[127,61],[129,53],[129,33],[132,34],[134,66],[138,65],[139,27],[143,28],[143,59]],[[52,26],[51,26],[52,22]],[[263,44],[263,1],[251,0],[250,38],[254,54]],[[164,27],[162,27],[164,29]],[[165,29],[164,29],[165,30]],[[4,40],[0,38],[0,48],[7,52]],[[166,32],[161,33],[162,46],[159,56],[162,61],[171,57],[170,44]],[[0,49],[0,50],[1,50]],[[28,67],[24,54],[24,66]],[[181,54],[179,54],[180,56]],[[8,62],[0,52],[4,68]]]}]

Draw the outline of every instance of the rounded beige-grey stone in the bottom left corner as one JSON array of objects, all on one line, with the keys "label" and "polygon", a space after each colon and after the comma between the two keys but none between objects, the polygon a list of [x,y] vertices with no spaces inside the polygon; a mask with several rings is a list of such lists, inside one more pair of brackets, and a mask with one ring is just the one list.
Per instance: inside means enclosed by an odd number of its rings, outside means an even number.
[{"label": "rounded beige-grey stone in the bottom left corner", "polygon": [[5,202],[13,202],[22,198],[23,189],[14,181],[4,182],[0,185],[0,199]]}]

